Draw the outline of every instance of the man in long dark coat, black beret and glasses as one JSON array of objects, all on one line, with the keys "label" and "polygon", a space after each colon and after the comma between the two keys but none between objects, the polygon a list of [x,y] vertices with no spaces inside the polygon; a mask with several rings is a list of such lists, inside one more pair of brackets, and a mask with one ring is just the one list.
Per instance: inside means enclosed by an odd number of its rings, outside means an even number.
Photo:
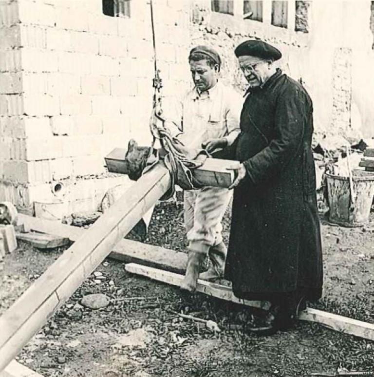
[{"label": "man in long dark coat, black beret and glasses", "polygon": [[[305,89],[261,40],[235,49],[249,82],[241,133],[221,157],[239,160],[225,276],[234,295],[272,306],[258,326],[270,334],[294,323],[322,292],[322,252],[311,140],[313,106]],[[219,156],[218,156],[219,157]]]}]

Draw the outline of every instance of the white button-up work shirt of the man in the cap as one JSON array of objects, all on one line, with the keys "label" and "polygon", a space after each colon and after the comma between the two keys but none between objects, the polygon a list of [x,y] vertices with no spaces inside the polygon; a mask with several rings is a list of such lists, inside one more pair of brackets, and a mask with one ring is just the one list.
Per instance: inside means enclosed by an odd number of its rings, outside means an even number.
[{"label": "white button-up work shirt of the man in the cap", "polygon": [[195,87],[177,105],[172,121],[178,128],[168,122],[168,129],[189,148],[201,148],[206,140],[221,137],[231,145],[240,133],[242,107],[243,97],[221,81],[202,93]]}]

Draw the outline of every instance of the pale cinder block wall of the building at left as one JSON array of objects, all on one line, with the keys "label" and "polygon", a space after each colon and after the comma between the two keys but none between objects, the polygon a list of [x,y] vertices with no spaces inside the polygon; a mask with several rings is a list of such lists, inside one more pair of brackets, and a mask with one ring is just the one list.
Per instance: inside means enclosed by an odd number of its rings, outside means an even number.
[{"label": "pale cinder block wall of the building at left", "polygon": [[[155,3],[159,69],[172,96],[188,82],[188,7]],[[131,1],[131,17],[121,18],[103,15],[101,0],[0,4],[0,200],[96,209],[107,188],[127,182],[105,171],[103,157],[131,137],[150,144],[150,5]]]}]

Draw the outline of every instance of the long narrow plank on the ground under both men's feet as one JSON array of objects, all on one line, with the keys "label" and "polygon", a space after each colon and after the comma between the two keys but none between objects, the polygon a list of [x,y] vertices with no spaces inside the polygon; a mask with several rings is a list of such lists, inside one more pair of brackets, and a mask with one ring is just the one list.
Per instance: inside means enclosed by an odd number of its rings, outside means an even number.
[{"label": "long narrow plank on the ground under both men's feet", "polygon": [[[146,276],[150,279],[159,282],[168,283],[171,285],[180,285],[183,280],[183,275],[174,274],[168,271],[162,271],[156,268],[151,268],[139,264],[126,264],[126,271],[131,273]],[[197,291],[205,293],[206,295],[217,297],[222,300],[241,303],[246,306],[262,307],[264,304],[259,301],[247,301],[236,298],[231,288],[214,283],[208,283],[204,280],[198,280]],[[299,314],[299,320],[306,320],[309,322],[320,323],[332,330],[336,330],[345,334],[354,335],[356,337],[374,340],[374,324],[367,323],[352,318],[339,316],[324,312],[322,310],[307,308]]]}]

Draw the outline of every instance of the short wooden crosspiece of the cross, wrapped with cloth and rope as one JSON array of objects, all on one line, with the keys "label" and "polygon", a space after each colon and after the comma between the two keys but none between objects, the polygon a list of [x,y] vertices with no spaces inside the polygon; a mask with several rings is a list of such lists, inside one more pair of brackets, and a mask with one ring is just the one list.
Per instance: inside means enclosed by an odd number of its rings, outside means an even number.
[{"label": "short wooden crosspiece of the cross, wrapped with cloth and rope", "polygon": [[[128,174],[128,163],[125,161],[126,149],[115,148],[105,161],[108,170],[113,173]],[[234,181],[234,171],[227,167],[239,166],[239,161],[207,158],[203,166],[192,170],[194,177],[204,186],[228,188]]]}]

